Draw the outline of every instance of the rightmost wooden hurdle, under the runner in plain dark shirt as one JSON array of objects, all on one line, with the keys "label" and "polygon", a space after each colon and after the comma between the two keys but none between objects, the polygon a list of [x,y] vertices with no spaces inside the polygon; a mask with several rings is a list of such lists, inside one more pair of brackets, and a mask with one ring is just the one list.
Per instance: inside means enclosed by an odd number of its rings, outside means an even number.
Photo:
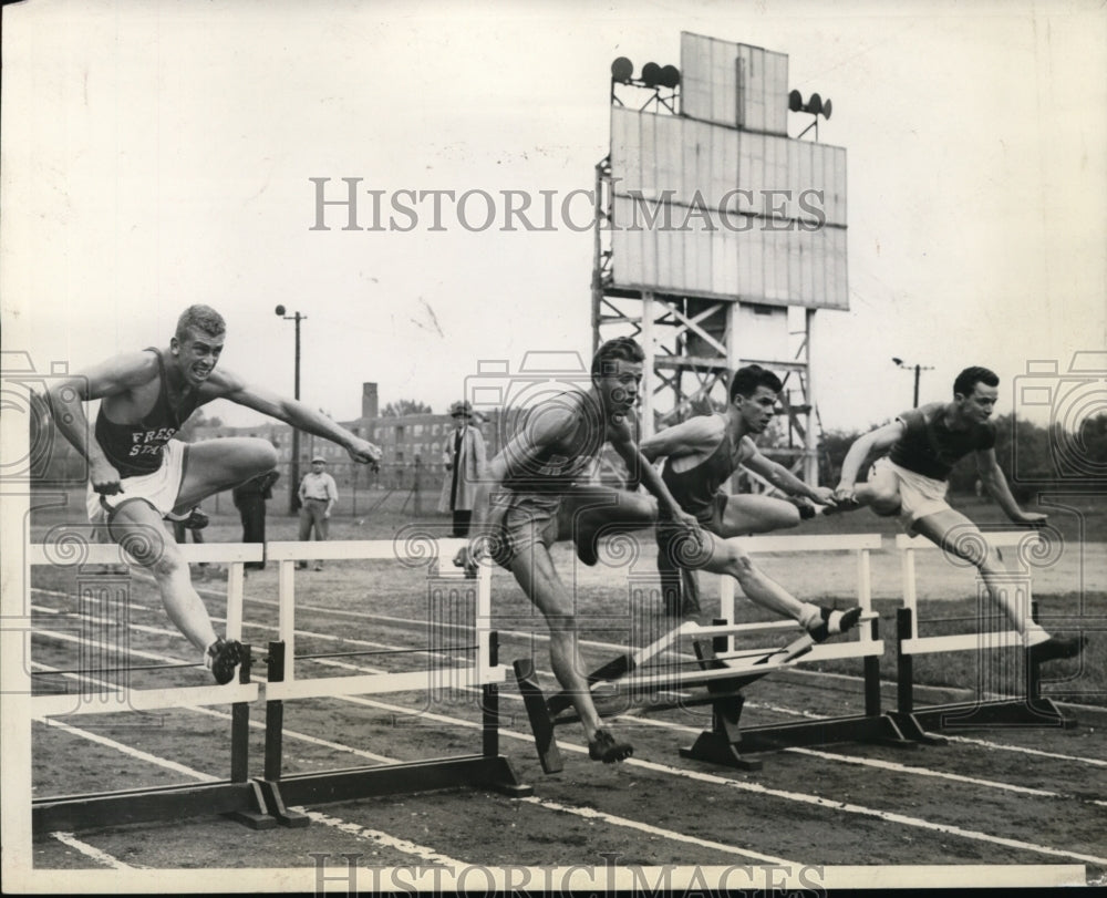
[{"label": "rightmost wooden hurdle, under the runner in plain dark shirt", "polygon": [[[1010,571],[1002,578],[1001,586],[1015,590],[1017,600],[1036,617],[1031,589],[1028,554],[1047,548],[1042,536],[1034,530],[983,533],[981,536],[996,548],[1016,547],[1020,569]],[[896,548],[901,555],[903,571],[903,607],[897,611],[896,660],[897,660],[897,710],[893,715],[900,727],[911,739],[930,744],[943,744],[946,740],[928,731],[954,727],[989,725],[1004,726],[1061,726],[1069,729],[1076,722],[1066,719],[1061,710],[1041,694],[1041,672],[1038,663],[1023,644],[1016,630],[987,633],[962,633],[956,636],[919,636],[919,607],[915,588],[915,551],[939,549],[921,536],[900,534],[896,537]],[[960,562],[969,566],[969,562]],[[986,587],[977,575],[977,590]],[[977,592],[977,595],[981,595]],[[991,599],[982,597],[981,601]],[[914,703],[913,659],[919,654],[939,652],[974,651],[991,649],[1023,649],[1021,694],[1015,696],[987,699],[981,695],[976,701],[951,702],[919,708]]]}]

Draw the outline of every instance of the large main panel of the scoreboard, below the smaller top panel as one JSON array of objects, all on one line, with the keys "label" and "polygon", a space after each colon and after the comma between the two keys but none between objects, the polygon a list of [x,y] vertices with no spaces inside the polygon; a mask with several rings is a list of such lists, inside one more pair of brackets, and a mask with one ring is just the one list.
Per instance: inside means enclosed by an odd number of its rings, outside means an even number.
[{"label": "large main panel of the scoreboard, below the smaller top panel", "polygon": [[613,106],[611,188],[613,286],[849,308],[844,148]]}]

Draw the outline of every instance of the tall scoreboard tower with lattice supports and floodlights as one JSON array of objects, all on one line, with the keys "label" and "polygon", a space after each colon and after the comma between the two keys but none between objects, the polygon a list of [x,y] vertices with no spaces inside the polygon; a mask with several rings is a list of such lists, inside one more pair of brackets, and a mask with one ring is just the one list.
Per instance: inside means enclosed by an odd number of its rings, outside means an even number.
[{"label": "tall scoreboard tower with lattice supports and floodlights", "polygon": [[[815,312],[849,308],[846,151],[817,141],[830,102],[789,93],[784,53],[687,32],[680,70],[632,71],[612,65],[597,166],[593,349],[643,344],[643,435],[723,407],[744,364],[775,371],[787,445],[766,452],[816,483]],[[814,115],[799,138],[789,112]]]}]

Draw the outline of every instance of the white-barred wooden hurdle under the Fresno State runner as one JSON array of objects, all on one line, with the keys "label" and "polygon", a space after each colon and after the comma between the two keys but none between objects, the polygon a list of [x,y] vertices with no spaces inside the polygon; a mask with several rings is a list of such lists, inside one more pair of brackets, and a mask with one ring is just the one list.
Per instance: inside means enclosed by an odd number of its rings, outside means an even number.
[{"label": "white-barred wooden hurdle under the Fresno State runner", "polygon": [[[89,544],[87,528],[74,528],[59,535],[55,541],[28,546],[28,565],[74,566],[77,568],[79,591],[123,588],[130,575],[94,575],[81,579],[85,565],[127,564],[126,553],[115,545]],[[189,564],[199,561],[227,564],[227,634],[241,639],[242,581],[246,561],[260,561],[262,547],[255,544],[200,544],[178,547]],[[125,600],[126,595],[123,595]],[[114,692],[85,694],[33,695],[32,718],[48,721],[80,714],[149,712],[159,709],[231,705],[230,774],[226,781],[178,786],[121,789],[81,795],[34,798],[31,824],[35,835],[59,829],[76,830],[92,826],[177,819],[204,814],[220,814],[255,829],[277,825],[269,814],[261,788],[249,777],[249,708],[258,699],[258,684],[250,681],[250,647],[244,646],[245,660],[237,683],[177,689],[116,688]]]}]

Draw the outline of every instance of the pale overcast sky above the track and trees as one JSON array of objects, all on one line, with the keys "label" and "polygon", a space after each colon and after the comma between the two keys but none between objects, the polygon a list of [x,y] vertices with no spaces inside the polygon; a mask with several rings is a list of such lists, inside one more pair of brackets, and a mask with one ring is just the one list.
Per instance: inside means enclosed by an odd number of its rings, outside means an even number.
[{"label": "pale overcast sky above the track and trees", "polygon": [[789,86],[834,101],[850,310],[817,316],[826,427],[910,404],[893,355],[933,368],[923,401],[992,367],[1007,411],[1028,361],[1107,345],[1101,4],[598,6],[6,7],[4,349],[79,369],[167,342],[203,301],[228,320],[223,364],[291,393],[283,303],[307,316],[303,398],[340,419],[363,381],[445,411],[482,359],[587,355],[591,234],[431,231],[424,207],[410,233],[331,213],[312,231],[309,179],[591,188],[611,60],[679,64],[682,30],[787,53]]}]

